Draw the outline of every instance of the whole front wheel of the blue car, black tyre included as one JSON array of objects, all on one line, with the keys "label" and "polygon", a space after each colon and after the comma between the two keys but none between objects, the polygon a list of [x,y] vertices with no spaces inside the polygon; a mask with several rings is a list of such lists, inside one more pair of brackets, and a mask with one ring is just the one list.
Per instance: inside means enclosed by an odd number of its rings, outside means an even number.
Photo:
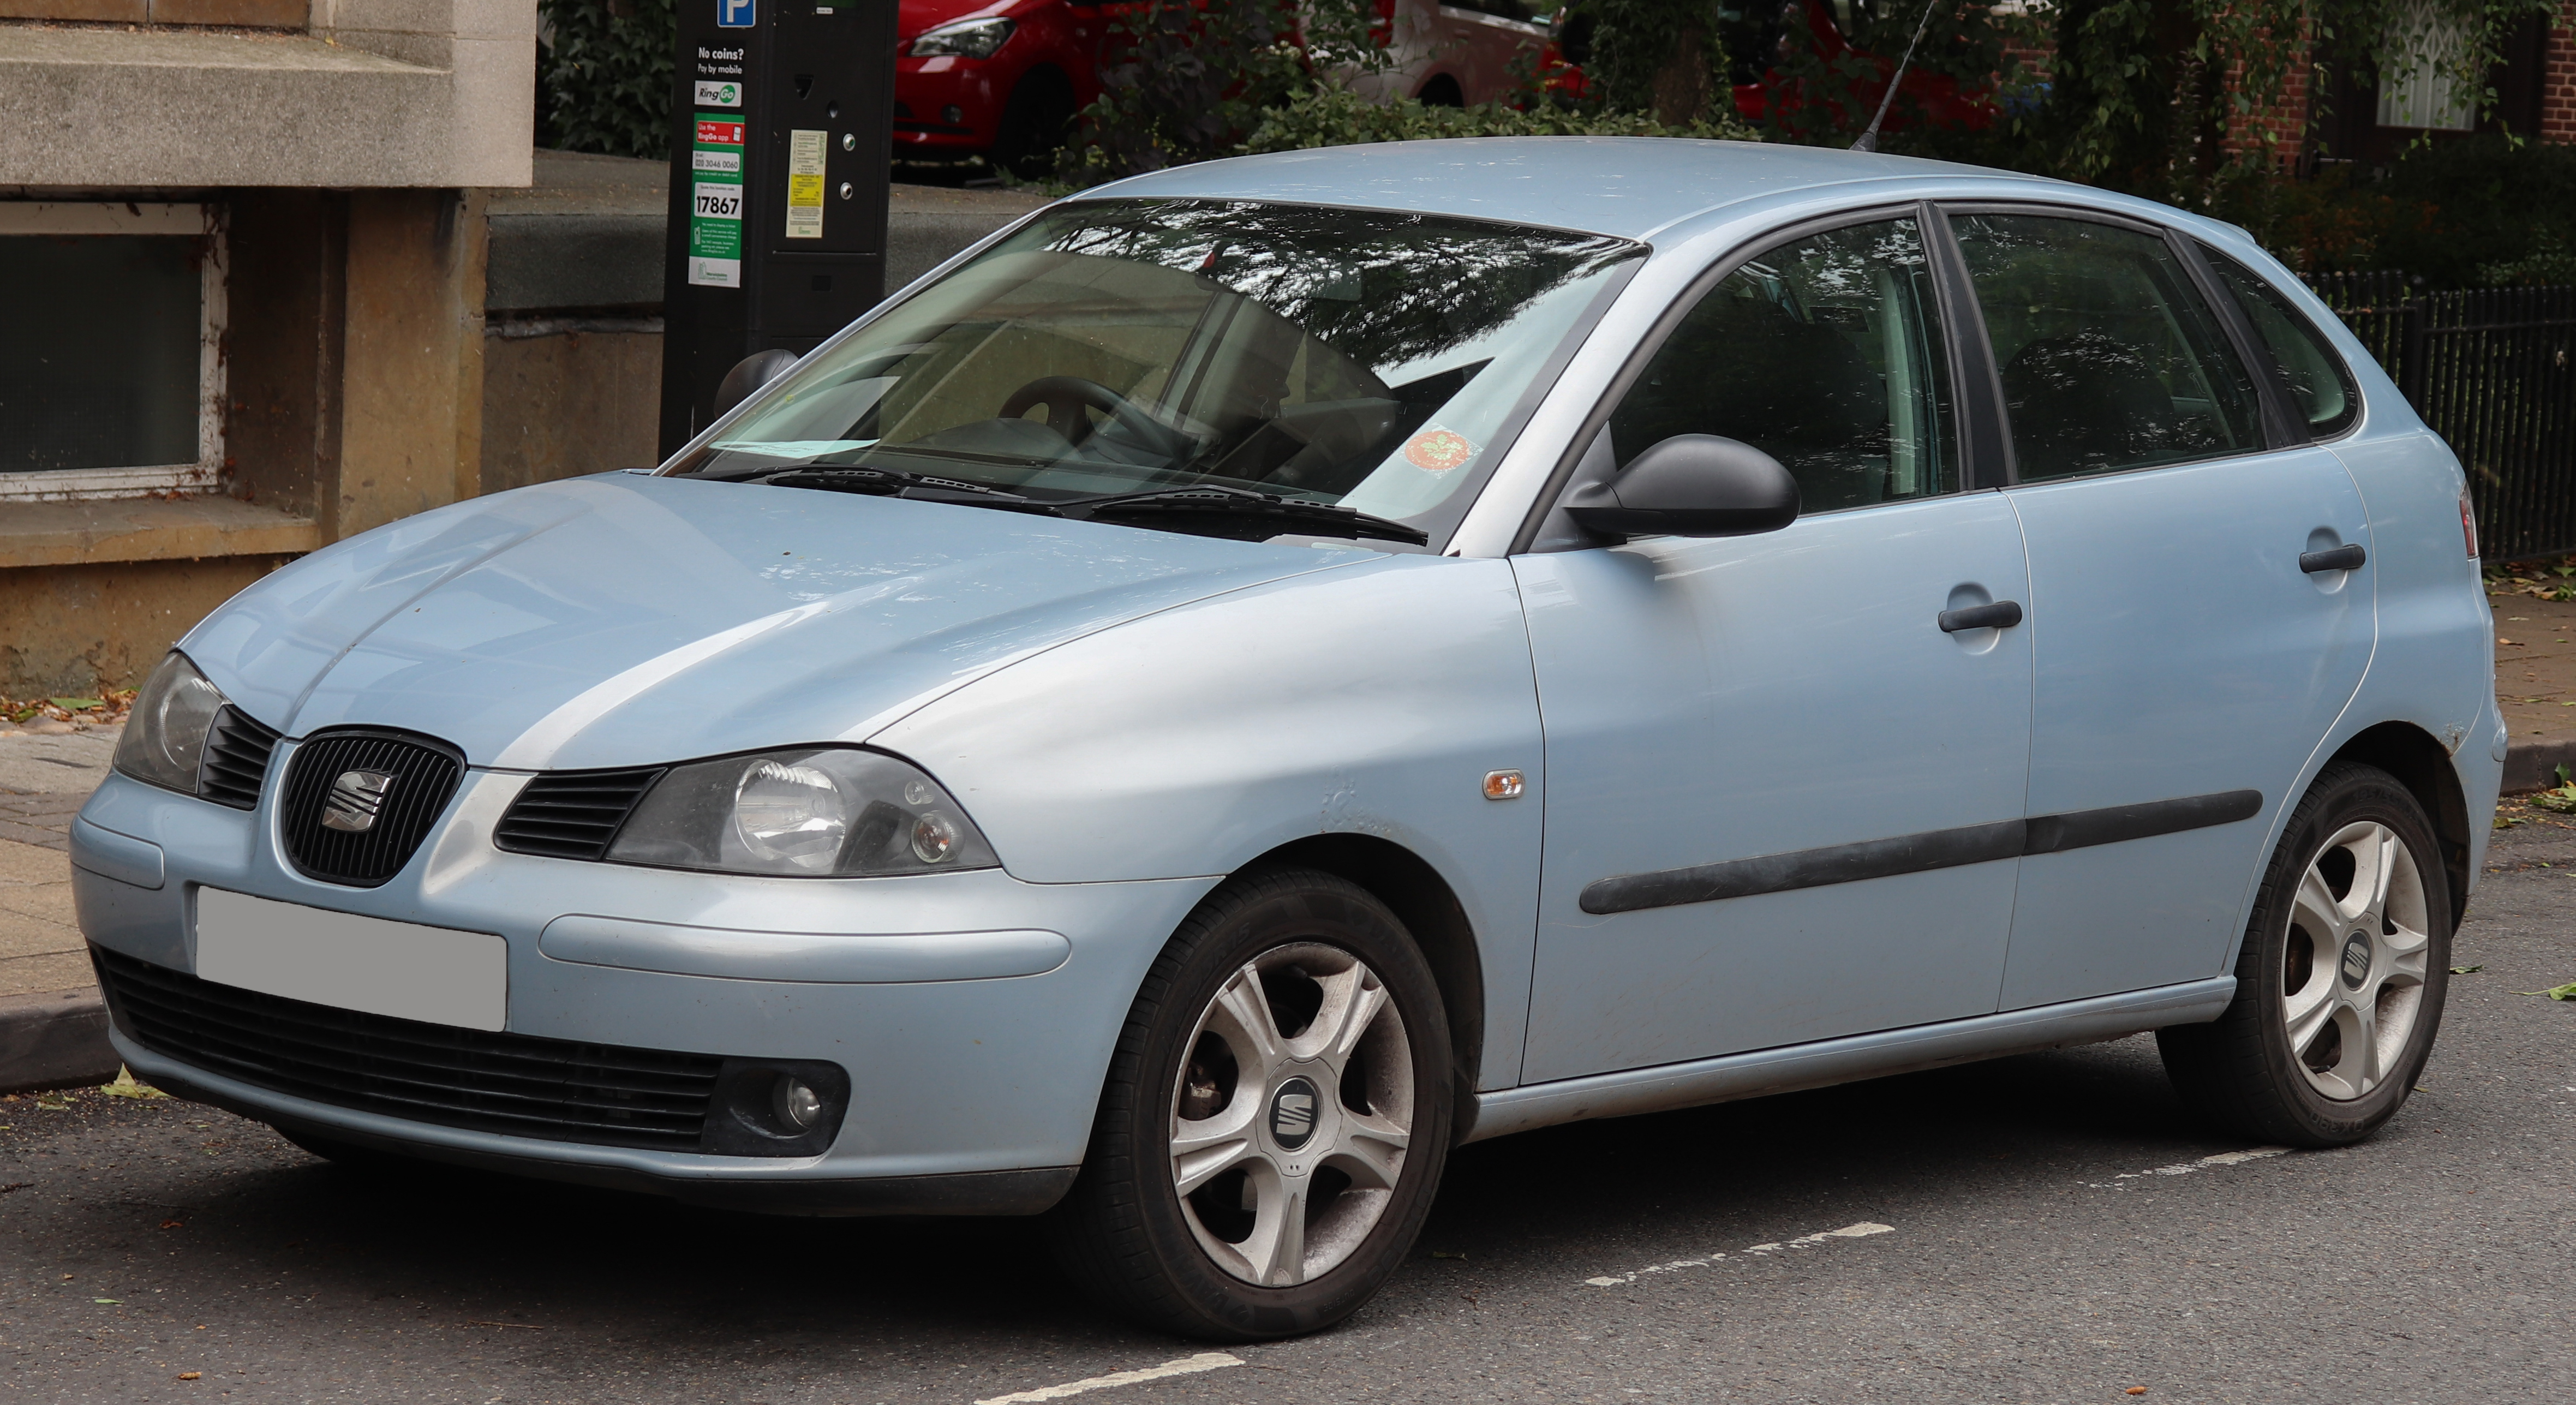
[{"label": "whole front wheel of the blue car, black tyre included", "polygon": [[1208,1341],[1347,1317],[1430,1214],[1448,1039],[1430,964],[1383,902],[1303,869],[1229,882],[1128,1011],[1082,1178],[1051,1219],[1064,1271],[1136,1323]]}]

